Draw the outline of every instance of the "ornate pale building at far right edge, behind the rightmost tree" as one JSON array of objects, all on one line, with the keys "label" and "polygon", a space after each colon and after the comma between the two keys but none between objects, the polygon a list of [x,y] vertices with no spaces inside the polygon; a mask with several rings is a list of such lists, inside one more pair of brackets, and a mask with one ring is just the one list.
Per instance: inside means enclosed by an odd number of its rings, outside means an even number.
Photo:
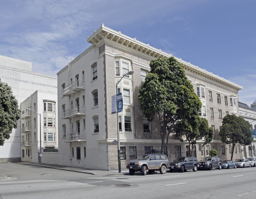
[{"label": "ornate pale building at far right edge, behind the rightmost tree", "polygon": [[249,106],[245,103],[238,102],[239,117],[244,118],[250,123],[250,130],[252,131],[252,143],[249,146],[243,147],[243,157],[256,157],[256,100]]}]

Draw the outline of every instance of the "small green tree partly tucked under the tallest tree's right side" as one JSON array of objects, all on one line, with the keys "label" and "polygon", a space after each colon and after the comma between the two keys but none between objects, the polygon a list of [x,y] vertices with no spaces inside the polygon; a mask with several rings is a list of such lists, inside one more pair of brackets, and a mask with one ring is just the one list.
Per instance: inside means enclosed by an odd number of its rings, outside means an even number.
[{"label": "small green tree partly tucked under the tallest tree's right side", "polygon": [[198,112],[179,122],[176,127],[176,137],[183,142],[183,137],[189,144],[190,155],[193,156],[193,148],[197,144],[197,140],[202,140],[203,145],[211,142],[213,139],[213,128],[209,127],[206,118],[200,118]]}]

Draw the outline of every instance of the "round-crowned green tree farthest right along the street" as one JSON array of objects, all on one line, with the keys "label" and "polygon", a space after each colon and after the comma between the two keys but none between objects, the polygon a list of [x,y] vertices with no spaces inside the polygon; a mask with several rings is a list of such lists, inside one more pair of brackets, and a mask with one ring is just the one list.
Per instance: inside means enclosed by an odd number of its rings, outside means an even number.
[{"label": "round-crowned green tree farthest right along the street", "polygon": [[233,159],[234,148],[237,142],[241,145],[249,145],[252,142],[250,123],[234,114],[227,114],[223,118],[219,135],[221,142],[232,144],[231,160]]}]

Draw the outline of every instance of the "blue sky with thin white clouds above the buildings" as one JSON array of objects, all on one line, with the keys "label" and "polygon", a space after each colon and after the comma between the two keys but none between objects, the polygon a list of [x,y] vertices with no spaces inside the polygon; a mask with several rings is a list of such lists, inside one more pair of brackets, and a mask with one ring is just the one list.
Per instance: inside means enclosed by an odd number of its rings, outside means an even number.
[{"label": "blue sky with thin white clouds above the buildings", "polygon": [[243,86],[256,99],[254,0],[0,0],[0,55],[56,76],[101,26]]}]

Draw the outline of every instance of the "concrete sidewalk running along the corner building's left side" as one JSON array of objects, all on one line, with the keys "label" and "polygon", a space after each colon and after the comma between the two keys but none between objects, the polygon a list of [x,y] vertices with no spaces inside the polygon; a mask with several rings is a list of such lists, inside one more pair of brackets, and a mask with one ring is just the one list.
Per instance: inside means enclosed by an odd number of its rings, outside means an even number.
[{"label": "concrete sidewalk running along the corner building's left side", "polygon": [[52,164],[40,164],[40,163],[33,163],[33,162],[15,162],[15,163],[32,165],[32,166],[41,166],[45,168],[58,169],[58,170],[64,170],[64,171],[73,171],[78,173],[86,173],[90,175],[108,176],[108,175],[128,175],[129,174],[129,170],[127,169],[121,170],[121,173],[119,173],[118,170],[111,170],[111,171],[93,170],[93,169],[85,169],[85,168],[52,165]]}]

